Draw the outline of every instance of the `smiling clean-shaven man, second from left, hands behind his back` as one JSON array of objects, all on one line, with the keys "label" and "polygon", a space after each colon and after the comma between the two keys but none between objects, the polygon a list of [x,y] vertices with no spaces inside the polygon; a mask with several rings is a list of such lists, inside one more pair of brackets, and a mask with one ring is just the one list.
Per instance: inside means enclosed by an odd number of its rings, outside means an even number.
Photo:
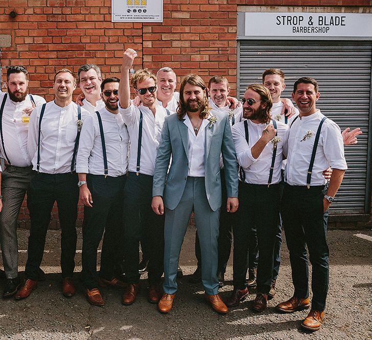
[{"label": "smiling clean-shaven man, second from left, hands behind his back", "polygon": [[38,269],[55,201],[61,226],[62,292],[65,297],[75,294],[72,275],[79,200],[75,161],[80,130],[89,112],[72,102],[76,77],[70,70],[63,68],[55,74],[53,89],[55,100],[38,106],[30,119],[28,152],[37,174],[31,180],[28,195],[31,229],[26,280],[16,299],[27,298],[37,287]]}]

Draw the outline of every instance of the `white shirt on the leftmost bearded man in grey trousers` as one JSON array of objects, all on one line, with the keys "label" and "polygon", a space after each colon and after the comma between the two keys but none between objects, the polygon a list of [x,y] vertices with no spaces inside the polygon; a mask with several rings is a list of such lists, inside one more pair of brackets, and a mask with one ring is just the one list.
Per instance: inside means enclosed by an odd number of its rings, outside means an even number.
[{"label": "white shirt on the leftmost bearded man in grey trousers", "polygon": [[[0,104],[3,102],[5,92],[0,92]],[[36,106],[43,104],[45,99],[32,95]],[[3,138],[5,152],[12,165],[17,167],[28,167],[31,165],[31,159],[27,152],[27,135],[29,123],[22,122],[22,113],[24,109],[32,107],[30,96],[20,102],[14,102],[7,96],[3,112]],[[33,111],[34,113],[35,111]],[[6,160],[3,145],[0,142],[0,157]]]}]

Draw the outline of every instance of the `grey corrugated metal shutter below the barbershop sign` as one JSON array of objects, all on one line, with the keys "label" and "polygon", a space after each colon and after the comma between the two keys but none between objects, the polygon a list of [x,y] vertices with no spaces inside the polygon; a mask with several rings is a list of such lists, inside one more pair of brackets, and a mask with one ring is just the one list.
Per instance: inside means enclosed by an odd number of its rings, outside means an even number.
[{"label": "grey corrugated metal shutter below the barbershop sign", "polygon": [[332,213],[369,213],[371,42],[241,40],[239,46],[240,96],[247,85],[262,83],[261,74],[267,68],[284,71],[287,88],[282,96],[287,98],[290,98],[295,80],[311,76],[319,83],[317,107],[341,130],[346,127],[362,129],[358,144],[345,147],[349,170],[332,204]]}]

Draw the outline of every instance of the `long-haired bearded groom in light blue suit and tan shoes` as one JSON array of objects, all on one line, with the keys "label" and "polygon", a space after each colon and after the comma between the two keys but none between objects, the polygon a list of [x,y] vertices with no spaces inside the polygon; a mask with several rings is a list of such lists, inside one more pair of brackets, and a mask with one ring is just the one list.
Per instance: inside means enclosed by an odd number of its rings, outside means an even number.
[{"label": "long-haired bearded groom in light blue suit and tan shoes", "polygon": [[[238,208],[236,155],[228,115],[211,111],[200,76],[186,76],[180,87],[177,114],[166,117],[155,163],[152,208],[164,213],[164,295],[168,312],[177,291],[177,266],[187,223],[195,214],[202,253],[205,298],[220,313],[227,307],[218,295],[217,239],[221,207],[219,158],[225,166],[227,211]],[[170,156],[172,163],[167,174]]]}]

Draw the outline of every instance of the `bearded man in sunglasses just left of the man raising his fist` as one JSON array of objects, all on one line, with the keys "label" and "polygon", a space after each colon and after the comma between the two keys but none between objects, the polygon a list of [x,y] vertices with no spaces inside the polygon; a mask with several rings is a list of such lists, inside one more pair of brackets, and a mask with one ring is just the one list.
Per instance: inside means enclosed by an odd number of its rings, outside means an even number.
[{"label": "bearded man in sunglasses just left of the man raising his fist", "polygon": [[[122,248],[123,190],[128,170],[129,135],[118,108],[119,79],[102,82],[105,108],[89,115],[79,141],[76,170],[84,206],[83,282],[89,303],[102,306],[101,285],[123,287],[114,274]],[[105,231],[98,277],[97,248]]]}]

